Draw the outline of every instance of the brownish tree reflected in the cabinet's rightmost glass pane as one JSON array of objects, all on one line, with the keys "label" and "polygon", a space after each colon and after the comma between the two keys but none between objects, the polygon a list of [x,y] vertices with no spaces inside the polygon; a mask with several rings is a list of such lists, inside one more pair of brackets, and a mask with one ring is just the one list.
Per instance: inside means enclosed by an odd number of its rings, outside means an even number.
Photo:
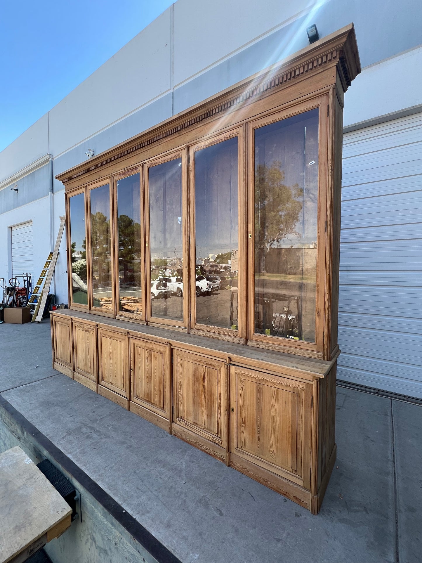
[{"label": "brownish tree reflected in the cabinet's rightmost glass pane", "polygon": [[255,265],[265,271],[265,257],[271,245],[287,235],[299,238],[295,225],[302,211],[303,189],[298,184],[286,186],[281,162],[268,167],[258,164],[255,169]]}]

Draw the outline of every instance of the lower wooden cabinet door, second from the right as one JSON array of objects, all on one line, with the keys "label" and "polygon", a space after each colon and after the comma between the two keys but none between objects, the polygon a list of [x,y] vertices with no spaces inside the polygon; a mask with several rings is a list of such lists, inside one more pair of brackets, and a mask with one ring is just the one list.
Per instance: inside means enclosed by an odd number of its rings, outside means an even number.
[{"label": "lower wooden cabinet door, second from the right", "polygon": [[172,434],[227,460],[226,364],[173,349]]}]

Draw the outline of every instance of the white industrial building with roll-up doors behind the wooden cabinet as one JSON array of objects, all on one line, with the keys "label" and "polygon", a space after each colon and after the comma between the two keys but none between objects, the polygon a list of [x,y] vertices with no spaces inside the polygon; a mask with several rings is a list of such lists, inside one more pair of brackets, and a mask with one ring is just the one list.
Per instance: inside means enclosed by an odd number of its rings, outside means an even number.
[{"label": "white industrial building with roll-up doors behind the wooden cabinet", "polygon": [[[65,213],[54,176],[354,23],[345,95],[338,379],[422,398],[419,0],[178,0],[0,153],[0,278],[33,284]],[[17,191],[16,191],[17,190]],[[68,302],[63,238],[52,292]]]}]

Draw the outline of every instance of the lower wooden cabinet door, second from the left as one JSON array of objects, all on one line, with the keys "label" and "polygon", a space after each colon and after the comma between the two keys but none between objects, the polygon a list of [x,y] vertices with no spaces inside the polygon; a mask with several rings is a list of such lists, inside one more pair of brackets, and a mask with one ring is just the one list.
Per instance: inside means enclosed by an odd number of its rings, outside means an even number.
[{"label": "lower wooden cabinet door, second from the left", "polygon": [[72,321],[73,378],[93,391],[97,390],[97,334],[96,325]]}]

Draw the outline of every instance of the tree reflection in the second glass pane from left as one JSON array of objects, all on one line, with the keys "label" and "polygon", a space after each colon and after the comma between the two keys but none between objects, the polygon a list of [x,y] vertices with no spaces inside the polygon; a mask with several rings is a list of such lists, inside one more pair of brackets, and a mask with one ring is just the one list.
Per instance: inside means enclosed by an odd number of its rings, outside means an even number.
[{"label": "tree reflection in the second glass pane from left", "polygon": [[[97,211],[91,213],[91,240],[92,240],[92,262],[96,266],[93,274],[94,287],[101,284],[110,284],[110,270],[108,261],[110,258],[110,219]],[[97,279],[96,279],[97,278]]]}]

